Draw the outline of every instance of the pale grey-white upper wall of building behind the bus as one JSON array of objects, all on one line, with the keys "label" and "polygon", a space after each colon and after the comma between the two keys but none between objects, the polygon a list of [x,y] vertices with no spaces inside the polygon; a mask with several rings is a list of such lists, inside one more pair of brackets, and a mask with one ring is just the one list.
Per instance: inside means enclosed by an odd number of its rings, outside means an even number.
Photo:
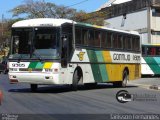
[{"label": "pale grey-white upper wall of building behind the bus", "polygon": [[139,12],[130,13],[126,15],[126,19],[123,16],[109,18],[106,20],[109,24],[106,25],[110,28],[122,29],[122,30],[136,30],[140,32],[142,37],[142,43],[148,43],[148,18],[147,9]]}]

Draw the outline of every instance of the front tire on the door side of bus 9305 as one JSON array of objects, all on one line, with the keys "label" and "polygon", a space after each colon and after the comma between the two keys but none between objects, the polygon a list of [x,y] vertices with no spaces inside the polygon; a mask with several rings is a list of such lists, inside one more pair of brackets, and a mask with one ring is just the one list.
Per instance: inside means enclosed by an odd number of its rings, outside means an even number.
[{"label": "front tire on the door side of bus 9305", "polygon": [[72,85],[71,85],[71,89],[73,91],[77,91],[78,89],[78,82],[79,82],[79,79],[78,79],[78,71],[76,70],[74,72],[74,75],[73,75],[73,81],[72,81]]}]

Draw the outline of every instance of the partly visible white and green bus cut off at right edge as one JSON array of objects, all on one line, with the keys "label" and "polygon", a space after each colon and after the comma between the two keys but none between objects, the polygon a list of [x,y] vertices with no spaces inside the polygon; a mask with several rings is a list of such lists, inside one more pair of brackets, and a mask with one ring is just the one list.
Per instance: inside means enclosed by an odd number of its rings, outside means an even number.
[{"label": "partly visible white and green bus cut off at right edge", "polygon": [[160,45],[142,45],[142,76],[160,76]]}]

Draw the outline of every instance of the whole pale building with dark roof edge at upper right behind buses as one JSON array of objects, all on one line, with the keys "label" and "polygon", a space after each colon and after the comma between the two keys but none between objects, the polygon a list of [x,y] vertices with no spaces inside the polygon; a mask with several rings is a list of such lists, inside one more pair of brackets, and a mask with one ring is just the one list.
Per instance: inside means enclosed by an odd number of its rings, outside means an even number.
[{"label": "whole pale building with dark roof edge at upper right behind buses", "polygon": [[107,27],[138,31],[142,44],[160,44],[160,0],[126,0],[101,7]]}]

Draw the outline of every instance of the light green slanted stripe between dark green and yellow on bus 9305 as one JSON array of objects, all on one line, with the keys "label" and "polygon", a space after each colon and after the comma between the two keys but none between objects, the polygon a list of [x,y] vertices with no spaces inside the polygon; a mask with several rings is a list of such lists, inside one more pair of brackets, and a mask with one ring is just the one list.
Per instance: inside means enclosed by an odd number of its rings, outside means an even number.
[{"label": "light green slanted stripe between dark green and yellow on bus 9305", "polygon": [[[104,62],[104,57],[103,57],[102,51],[96,51],[96,55],[97,55],[98,62]],[[107,70],[106,70],[106,64],[100,64],[99,68],[100,68],[100,72],[101,72],[101,76],[102,76],[103,82],[108,81],[108,74],[107,74]]]}]

